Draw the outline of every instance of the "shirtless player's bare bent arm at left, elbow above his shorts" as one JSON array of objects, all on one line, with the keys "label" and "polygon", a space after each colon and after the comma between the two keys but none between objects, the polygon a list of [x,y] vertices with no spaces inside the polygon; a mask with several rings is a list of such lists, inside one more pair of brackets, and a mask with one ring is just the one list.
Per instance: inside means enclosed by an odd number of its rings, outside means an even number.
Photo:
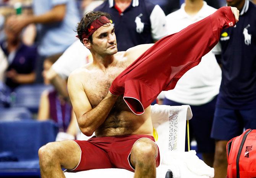
[{"label": "shirtless player's bare bent arm at left, elbow above his shorts", "polygon": [[118,96],[109,92],[95,108],[92,108],[80,78],[81,73],[71,73],[68,77],[68,93],[80,130],[86,136],[91,136],[105,121]]}]

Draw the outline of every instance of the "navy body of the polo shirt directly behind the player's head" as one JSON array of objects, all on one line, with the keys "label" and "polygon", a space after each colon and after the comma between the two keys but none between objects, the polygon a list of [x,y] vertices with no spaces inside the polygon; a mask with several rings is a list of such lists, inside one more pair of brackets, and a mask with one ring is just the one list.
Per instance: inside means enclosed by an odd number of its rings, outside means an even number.
[{"label": "navy body of the polo shirt directly behind the player's head", "polygon": [[[115,27],[118,51],[126,51],[136,45],[154,42],[151,36],[150,15],[156,6],[155,4],[149,0],[133,0],[130,6],[121,12],[115,6],[114,0],[110,2],[113,4],[110,5],[109,0],[106,0],[102,5],[95,8],[94,11],[102,11],[111,15],[110,19]],[[138,3],[136,4],[136,2]],[[144,27],[139,28],[138,24],[144,24]]]}]

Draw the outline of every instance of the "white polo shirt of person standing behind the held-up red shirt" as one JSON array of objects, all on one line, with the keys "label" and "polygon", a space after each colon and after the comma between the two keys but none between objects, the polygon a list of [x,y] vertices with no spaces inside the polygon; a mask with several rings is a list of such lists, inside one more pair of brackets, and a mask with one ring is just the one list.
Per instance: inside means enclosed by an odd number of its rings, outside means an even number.
[{"label": "white polo shirt of person standing behind the held-up red shirt", "polygon": [[[216,11],[204,2],[201,10],[193,17],[185,12],[185,3],[181,8],[167,15],[169,34],[176,33]],[[180,44],[182,48],[182,44]],[[178,59],[177,59],[178,60]],[[198,66],[187,71],[173,90],[164,92],[169,100],[189,105],[202,105],[210,102],[218,93],[221,82],[221,70],[211,52],[207,53]]]}]

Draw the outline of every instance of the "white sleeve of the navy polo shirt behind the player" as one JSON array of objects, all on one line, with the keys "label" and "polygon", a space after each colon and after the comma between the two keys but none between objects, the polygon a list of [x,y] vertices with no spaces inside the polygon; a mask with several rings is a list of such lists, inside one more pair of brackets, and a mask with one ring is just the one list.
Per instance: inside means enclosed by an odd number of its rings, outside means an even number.
[{"label": "white sleeve of the navy polo shirt behind the player", "polygon": [[167,35],[167,22],[164,11],[156,5],[150,15],[151,35],[154,40],[159,40]]}]

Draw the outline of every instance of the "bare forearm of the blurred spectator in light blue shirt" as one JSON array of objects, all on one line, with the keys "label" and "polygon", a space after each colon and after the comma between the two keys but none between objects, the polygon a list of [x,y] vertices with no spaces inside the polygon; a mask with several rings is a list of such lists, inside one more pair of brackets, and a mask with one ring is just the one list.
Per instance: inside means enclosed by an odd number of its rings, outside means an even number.
[{"label": "bare forearm of the blurred spectator in light blue shirt", "polygon": [[52,10],[42,14],[42,15],[31,15],[28,16],[28,24],[31,23],[55,23],[63,20],[66,14],[66,5],[57,5],[52,8]]}]

